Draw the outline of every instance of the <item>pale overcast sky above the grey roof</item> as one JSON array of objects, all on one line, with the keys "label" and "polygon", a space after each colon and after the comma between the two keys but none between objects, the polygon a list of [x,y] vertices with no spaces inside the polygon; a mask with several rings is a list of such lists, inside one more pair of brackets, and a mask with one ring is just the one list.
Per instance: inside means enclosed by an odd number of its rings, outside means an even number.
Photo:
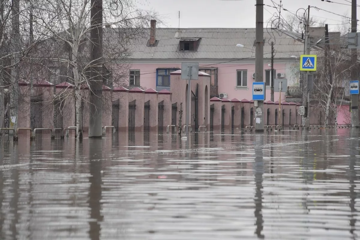
[{"label": "pale overcast sky above the grey roof", "polygon": [[[308,5],[327,10],[329,12],[351,17],[351,0],[333,0],[329,3],[321,0],[283,0],[284,9],[296,13],[299,8]],[[358,1],[360,5],[360,1]],[[162,15],[166,26],[178,27],[180,11],[181,28],[254,28],[255,27],[255,0],[144,0],[141,8],[153,10]],[[274,0],[280,4],[280,0]],[[274,6],[271,0],[264,0],[264,4]],[[348,4],[348,5],[346,5]],[[278,10],[264,6],[264,22],[267,22]],[[279,8],[278,8],[279,9]],[[360,6],[357,8],[359,18]],[[302,10],[303,13],[303,10]],[[291,14],[281,10],[281,16]],[[310,15],[329,24],[331,30],[336,30],[342,23],[342,17],[323,10],[310,9]],[[332,24],[332,25],[330,25]],[[350,27],[350,23],[346,26]],[[266,27],[266,23],[264,23]],[[359,27],[358,27],[359,29]]]}]

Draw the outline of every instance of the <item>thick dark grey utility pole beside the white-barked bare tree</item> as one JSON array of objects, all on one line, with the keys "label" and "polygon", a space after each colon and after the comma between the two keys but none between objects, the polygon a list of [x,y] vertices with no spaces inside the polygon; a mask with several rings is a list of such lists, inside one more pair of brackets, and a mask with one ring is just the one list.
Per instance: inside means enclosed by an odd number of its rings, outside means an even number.
[{"label": "thick dark grey utility pole beside the white-barked bare tree", "polygon": [[90,30],[90,118],[89,137],[103,136],[102,129],[102,94],[103,80],[101,64],[103,58],[103,0],[91,0]]}]

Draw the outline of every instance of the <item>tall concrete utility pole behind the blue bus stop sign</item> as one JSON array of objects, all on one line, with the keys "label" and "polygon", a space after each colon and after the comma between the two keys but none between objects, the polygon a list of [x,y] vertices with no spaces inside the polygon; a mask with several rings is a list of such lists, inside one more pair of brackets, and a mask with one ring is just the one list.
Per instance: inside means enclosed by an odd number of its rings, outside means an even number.
[{"label": "tall concrete utility pole behind the blue bus stop sign", "polygon": [[[264,82],[264,0],[256,0],[255,82]],[[264,132],[264,101],[255,101],[254,105],[257,106],[255,116],[260,118],[255,132]]]}]

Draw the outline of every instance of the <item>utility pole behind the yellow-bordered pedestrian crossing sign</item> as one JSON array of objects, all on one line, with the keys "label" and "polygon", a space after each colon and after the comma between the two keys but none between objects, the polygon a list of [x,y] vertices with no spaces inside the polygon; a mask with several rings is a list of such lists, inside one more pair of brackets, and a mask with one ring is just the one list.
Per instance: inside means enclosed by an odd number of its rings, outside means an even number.
[{"label": "utility pole behind the yellow-bordered pedestrian crossing sign", "polygon": [[[309,28],[310,28],[310,5],[307,7],[307,21],[305,27],[305,50],[304,54],[310,54],[310,44],[309,44]],[[306,128],[309,127],[309,112],[310,112],[310,94],[309,90],[307,90],[307,77],[309,76],[310,72],[307,71],[305,77],[302,78],[302,105],[306,106],[306,117],[301,117],[301,124],[306,125]]]}]

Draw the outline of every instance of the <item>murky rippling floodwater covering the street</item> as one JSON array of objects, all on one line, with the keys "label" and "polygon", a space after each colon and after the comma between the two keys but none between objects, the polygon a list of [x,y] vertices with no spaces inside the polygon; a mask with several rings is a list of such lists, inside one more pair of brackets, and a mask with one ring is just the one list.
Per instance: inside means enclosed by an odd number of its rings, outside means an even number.
[{"label": "murky rippling floodwater covering the street", "polygon": [[5,143],[0,239],[357,239],[359,131]]}]

